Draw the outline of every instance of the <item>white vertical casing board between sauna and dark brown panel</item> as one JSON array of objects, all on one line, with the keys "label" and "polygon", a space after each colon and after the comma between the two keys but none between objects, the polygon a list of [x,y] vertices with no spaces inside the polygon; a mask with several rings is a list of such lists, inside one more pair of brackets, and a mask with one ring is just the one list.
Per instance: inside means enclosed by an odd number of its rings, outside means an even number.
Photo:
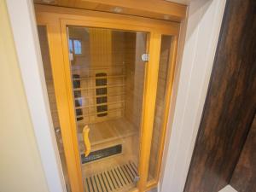
[{"label": "white vertical casing board between sauna and dark brown panel", "polygon": [[194,0],[189,4],[183,57],[178,61],[180,77],[175,82],[177,102],[174,118],[170,116],[168,125],[172,131],[167,136],[170,140],[165,148],[161,192],[183,191],[207,96],[224,5],[225,0]]}]

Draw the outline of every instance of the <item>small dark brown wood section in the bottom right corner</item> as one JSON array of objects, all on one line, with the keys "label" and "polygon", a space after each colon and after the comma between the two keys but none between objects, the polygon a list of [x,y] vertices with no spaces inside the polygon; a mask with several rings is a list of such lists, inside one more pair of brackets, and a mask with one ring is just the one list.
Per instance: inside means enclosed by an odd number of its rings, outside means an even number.
[{"label": "small dark brown wood section in the bottom right corner", "polygon": [[256,115],[242,149],[230,185],[239,192],[256,190]]}]

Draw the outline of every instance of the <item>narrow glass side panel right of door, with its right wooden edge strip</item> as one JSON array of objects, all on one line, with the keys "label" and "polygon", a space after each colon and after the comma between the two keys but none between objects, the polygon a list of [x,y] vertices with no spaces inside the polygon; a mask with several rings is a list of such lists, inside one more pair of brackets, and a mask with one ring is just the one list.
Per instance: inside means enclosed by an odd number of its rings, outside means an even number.
[{"label": "narrow glass side panel right of door, with its right wooden edge strip", "polygon": [[166,140],[166,126],[172,96],[176,47],[176,38],[172,35],[161,35],[154,124],[148,162],[148,184],[156,183],[160,176],[161,159]]}]

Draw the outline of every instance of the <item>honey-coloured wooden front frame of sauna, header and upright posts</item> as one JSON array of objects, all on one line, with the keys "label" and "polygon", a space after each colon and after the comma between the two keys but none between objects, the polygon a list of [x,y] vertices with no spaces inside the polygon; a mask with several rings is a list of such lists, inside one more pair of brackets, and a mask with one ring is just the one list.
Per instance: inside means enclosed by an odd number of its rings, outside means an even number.
[{"label": "honey-coloured wooden front frame of sauna, header and upright posts", "polygon": [[[80,169],[79,146],[77,143],[75,113],[73,111],[72,79],[67,49],[67,26],[94,26],[121,30],[148,32],[148,53],[150,60],[146,64],[146,75],[143,91],[142,135],[140,144],[140,158],[138,172],[141,176],[138,182],[138,190],[145,191],[155,187],[159,180],[159,172],[153,182],[148,183],[148,163],[151,148],[151,138],[154,123],[154,107],[158,68],[160,60],[161,35],[171,35],[172,60],[170,60],[172,75],[168,84],[167,103],[170,103],[172,95],[172,82],[176,63],[177,38],[179,24],[176,22],[152,20],[131,15],[113,15],[89,10],[55,8],[50,6],[36,6],[38,25],[44,25],[47,29],[49,41],[49,55],[55,84],[56,104],[59,113],[61,134],[63,139],[67,172],[73,191],[82,192],[82,172]],[[64,75],[64,76],[63,76]],[[165,110],[164,131],[161,135],[160,151],[163,151],[165,143],[166,123],[168,108]],[[146,129],[147,127],[147,129]],[[70,137],[72,136],[72,137]],[[157,170],[160,171],[162,153],[158,160]]]}]

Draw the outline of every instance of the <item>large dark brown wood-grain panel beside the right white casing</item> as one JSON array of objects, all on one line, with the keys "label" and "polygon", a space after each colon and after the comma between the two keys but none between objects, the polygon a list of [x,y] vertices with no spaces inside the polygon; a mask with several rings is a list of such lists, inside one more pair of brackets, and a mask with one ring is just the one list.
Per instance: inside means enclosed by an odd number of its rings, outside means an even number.
[{"label": "large dark brown wood-grain panel beside the right white casing", "polygon": [[185,192],[230,182],[256,108],[255,34],[256,1],[228,1]]}]

